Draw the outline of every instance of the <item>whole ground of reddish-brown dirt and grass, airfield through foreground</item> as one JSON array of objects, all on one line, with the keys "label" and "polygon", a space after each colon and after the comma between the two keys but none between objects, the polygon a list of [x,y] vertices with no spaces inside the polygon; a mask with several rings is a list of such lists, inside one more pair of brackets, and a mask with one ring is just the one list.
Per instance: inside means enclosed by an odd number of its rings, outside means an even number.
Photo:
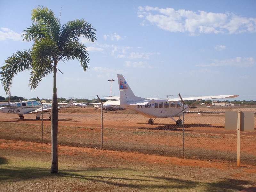
[{"label": "whole ground of reddish-brown dirt and grass, airfield through foreground", "polygon": [[223,114],[186,114],[181,158],[182,127],[170,118],[149,125],[128,110],[103,112],[102,148],[101,110],[61,109],[56,175],[49,173],[49,115],[43,144],[41,121],[24,116],[0,116],[4,191],[239,191],[256,181],[256,132],[241,132],[236,167],[236,131],[224,130]]}]

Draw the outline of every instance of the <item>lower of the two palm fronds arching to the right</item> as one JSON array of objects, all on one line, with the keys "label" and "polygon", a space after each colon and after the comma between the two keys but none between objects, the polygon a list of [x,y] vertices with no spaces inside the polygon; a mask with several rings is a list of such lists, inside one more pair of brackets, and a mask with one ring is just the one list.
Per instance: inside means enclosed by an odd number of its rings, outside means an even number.
[{"label": "lower of the two palm fronds arching to the right", "polygon": [[82,43],[72,42],[66,44],[62,50],[63,60],[78,59],[84,71],[88,69],[89,56],[87,48]]}]

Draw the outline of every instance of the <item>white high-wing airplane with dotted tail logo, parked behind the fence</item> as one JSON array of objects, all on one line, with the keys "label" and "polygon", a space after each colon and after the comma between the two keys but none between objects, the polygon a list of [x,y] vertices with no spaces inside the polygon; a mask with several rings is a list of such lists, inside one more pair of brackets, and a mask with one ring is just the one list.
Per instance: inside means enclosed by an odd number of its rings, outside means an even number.
[{"label": "white high-wing airplane with dotted tail logo, parked behind the fence", "polygon": [[[149,117],[148,124],[153,124],[156,118],[170,117],[176,122],[178,126],[182,124],[182,120],[175,120],[173,117],[182,116],[183,106],[180,98],[174,99],[149,99],[136,97],[125,81],[123,75],[117,75],[119,92],[120,92],[120,106],[122,108],[130,109],[143,116]],[[234,98],[238,95],[215,95],[215,96],[203,96],[203,97],[188,97],[182,98],[182,100],[206,100],[206,99],[223,99]],[[189,106],[184,106],[185,111],[189,110]],[[154,119],[152,119],[154,118]]]}]

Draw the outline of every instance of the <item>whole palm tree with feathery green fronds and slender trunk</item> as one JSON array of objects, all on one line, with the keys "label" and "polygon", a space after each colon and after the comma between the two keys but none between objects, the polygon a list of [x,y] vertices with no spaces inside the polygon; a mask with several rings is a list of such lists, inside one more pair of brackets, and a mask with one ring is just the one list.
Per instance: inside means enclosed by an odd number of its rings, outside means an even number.
[{"label": "whole palm tree with feathery green fronds and slender trunk", "polygon": [[38,6],[31,12],[32,26],[24,30],[23,41],[34,41],[31,50],[18,51],[5,60],[1,67],[1,81],[6,94],[12,85],[12,79],[20,71],[31,70],[30,90],[36,89],[39,82],[53,73],[52,94],[52,167],[51,173],[58,172],[58,102],[56,74],[57,63],[78,59],[84,71],[88,68],[89,56],[84,44],[78,42],[80,36],[91,42],[96,39],[96,30],[86,20],[73,20],[64,25],[47,7]]}]

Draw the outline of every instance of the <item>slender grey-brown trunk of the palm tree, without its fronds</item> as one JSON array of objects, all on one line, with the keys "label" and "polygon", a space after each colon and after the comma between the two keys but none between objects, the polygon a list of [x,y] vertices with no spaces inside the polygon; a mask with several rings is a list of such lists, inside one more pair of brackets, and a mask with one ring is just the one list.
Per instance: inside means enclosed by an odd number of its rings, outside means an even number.
[{"label": "slender grey-brown trunk of the palm tree, without its fronds", "polygon": [[53,94],[52,94],[52,168],[51,173],[58,173],[58,101],[57,101],[57,62],[54,62],[53,71]]}]

